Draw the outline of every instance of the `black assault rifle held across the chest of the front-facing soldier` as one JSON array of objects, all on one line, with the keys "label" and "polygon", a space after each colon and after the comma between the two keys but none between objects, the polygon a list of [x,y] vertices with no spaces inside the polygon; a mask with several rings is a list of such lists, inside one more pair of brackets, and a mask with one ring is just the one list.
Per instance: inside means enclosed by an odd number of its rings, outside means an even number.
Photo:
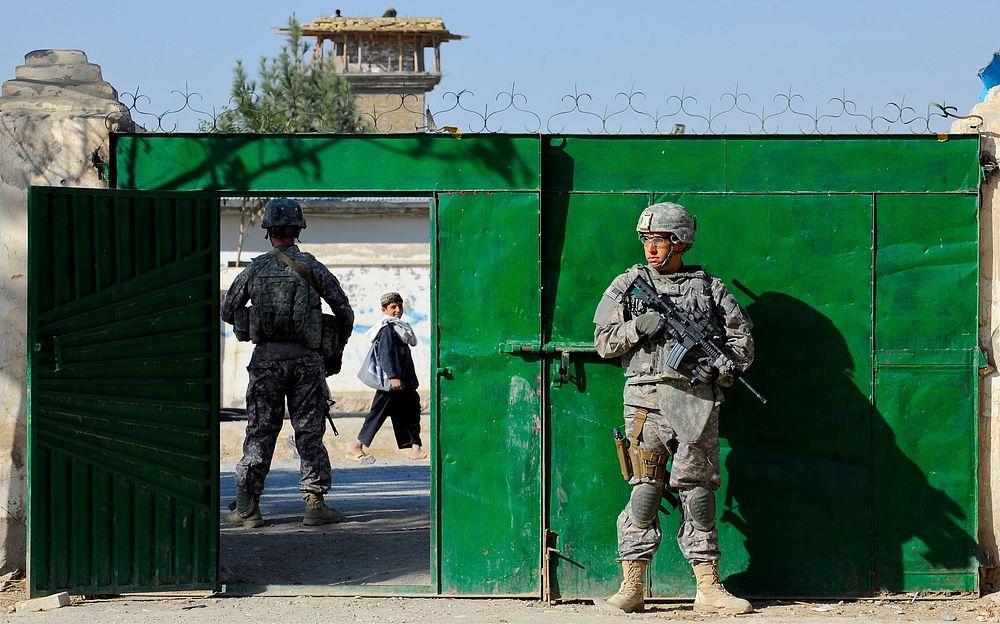
[{"label": "black assault rifle held across the chest of the front-facing soldier", "polygon": [[[697,345],[701,347],[702,351],[711,360],[712,366],[717,368],[721,373],[735,377],[737,381],[746,386],[746,389],[761,402],[761,405],[767,403],[767,399],[761,393],[754,390],[753,386],[747,383],[746,379],[740,377],[736,372],[738,370],[736,363],[717,344],[718,337],[712,335],[712,324],[708,318],[698,317],[687,310],[677,307],[670,301],[669,297],[656,292],[653,285],[647,282],[641,275],[636,276],[632,280],[629,290],[631,296],[645,302],[646,305],[650,306],[663,317],[667,322],[669,331],[677,339],[677,344],[674,345],[674,348],[667,355],[667,366],[674,370],[680,370],[678,367],[681,364],[681,360],[684,359],[684,356],[687,355],[687,352],[692,347]],[[698,383],[696,378],[689,381],[692,386]]]}]

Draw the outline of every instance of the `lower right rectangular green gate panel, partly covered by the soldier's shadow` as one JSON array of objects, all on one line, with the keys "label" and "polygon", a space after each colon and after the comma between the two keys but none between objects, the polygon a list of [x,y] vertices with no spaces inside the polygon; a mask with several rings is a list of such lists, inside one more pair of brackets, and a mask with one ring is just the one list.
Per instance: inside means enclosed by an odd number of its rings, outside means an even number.
[{"label": "lower right rectangular green gate panel, partly covered by the soldier's shadow", "polygon": [[877,370],[872,437],[878,589],[977,588],[976,378],[971,362]]}]

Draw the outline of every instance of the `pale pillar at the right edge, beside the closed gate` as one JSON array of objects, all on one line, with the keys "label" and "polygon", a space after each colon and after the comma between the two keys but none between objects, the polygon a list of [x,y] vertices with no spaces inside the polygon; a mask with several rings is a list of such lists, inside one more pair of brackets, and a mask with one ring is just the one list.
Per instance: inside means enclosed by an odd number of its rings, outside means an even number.
[{"label": "pale pillar at the right edge, beside the closed gate", "polygon": [[[980,132],[981,159],[1000,162],[1000,87],[991,89],[986,99],[969,115],[982,118],[958,119],[953,134]],[[984,555],[984,593],[998,589],[1000,569],[1000,170],[994,171],[980,188],[979,211],[979,344],[986,351],[989,367],[981,371],[979,409],[979,543]]]}]

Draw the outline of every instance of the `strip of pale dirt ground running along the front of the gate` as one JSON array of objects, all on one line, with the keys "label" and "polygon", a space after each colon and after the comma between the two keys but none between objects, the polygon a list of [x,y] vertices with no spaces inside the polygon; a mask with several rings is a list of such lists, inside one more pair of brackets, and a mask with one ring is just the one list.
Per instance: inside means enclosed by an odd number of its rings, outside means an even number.
[{"label": "strip of pale dirt ground running along the front of the gate", "polygon": [[[16,592],[0,593],[10,598]],[[845,603],[763,602],[757,612],[740,620],[774,624],[855,624],[857,622],[1000,622],[996,594],[979,599],[894,600],[872,599]],[[5,603],[10,604],[9,600]],[[8,614],[12,623],[210,623],[282,622],[431,624],[605,624],[611,622],[733,621],[734,617],[700,616],[690,602],[663,602],[647,606],[644,613],[607,615],[585,603],[549,605],[532,600],[457,598],[310,598],[210,596],[130,596],[112,600],[78,600],[69,607],[47,613]]]}]

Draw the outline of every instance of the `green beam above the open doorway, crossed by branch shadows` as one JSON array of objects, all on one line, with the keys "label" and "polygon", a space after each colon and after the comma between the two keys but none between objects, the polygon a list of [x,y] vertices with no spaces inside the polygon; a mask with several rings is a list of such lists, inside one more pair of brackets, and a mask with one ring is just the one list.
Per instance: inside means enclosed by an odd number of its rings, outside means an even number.
[{"label": "green beam above the open doorway, crossed by branch shadows", "polygon": [[538,139],[508,135],[123,135],[118,188],[534,190]]}]

